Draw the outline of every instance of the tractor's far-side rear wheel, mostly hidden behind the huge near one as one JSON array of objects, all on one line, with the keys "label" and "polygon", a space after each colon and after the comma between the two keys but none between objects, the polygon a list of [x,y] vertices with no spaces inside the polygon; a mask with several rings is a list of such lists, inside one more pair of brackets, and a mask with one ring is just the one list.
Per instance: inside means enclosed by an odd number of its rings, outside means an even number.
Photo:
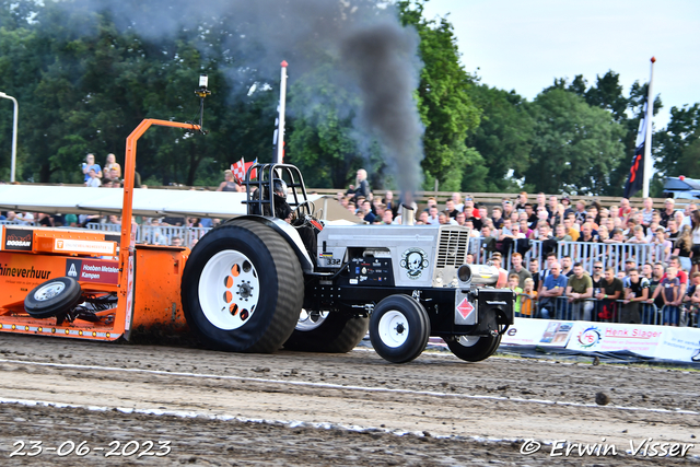
[{"label": "tractor's far-side rear wheel, mostly hidden behind the huge near one", "polygon": [[302,311],[284,349],[302,352],[347,353],[368,332],[370,319],[343,313]]}]

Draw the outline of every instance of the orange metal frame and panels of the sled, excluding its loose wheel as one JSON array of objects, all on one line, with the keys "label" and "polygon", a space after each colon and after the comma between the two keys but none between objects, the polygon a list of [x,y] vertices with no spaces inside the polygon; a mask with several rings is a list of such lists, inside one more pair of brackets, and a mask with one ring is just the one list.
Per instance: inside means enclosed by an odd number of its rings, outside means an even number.
[{"label": "orange metal frame and panels of the sled, excluding its loose wheel", "polygon": [[[130,331],[138,327],[149,328],[151,326],[168,325],[184,328],[185,319],[179,303],[179,282],[189,249],[142,245],[137,247],[136,232],[131,222],[137,141],[152,126],[201,131],[201,126],[196,124],[147,118],[127,138],[124,201],[121,207],[122,222],[117,259],[118,279],[116,283],[91,283],[79,280],[84,293],[117,294],[116,307],[98,313],[102,316],[114,314],[114,319],[108,323],[91,323],[75,319],[72,323],[63,322],[61,325],[57,325],[55,317],[39,319],[28,316],[24,311],[24,296],[28,291],[45,281],[45,279],[39,279],[34,284],[14,287],[15,290],[13,290],[12,294],[5,290],[4,293],[7,295],[4,297],[2,297],[3,290],[1,290],[3,288],[0,288],[0,331],[91,340],[116,340],[122,336],[128,339]],[[18,229],[22,230],[22,227]],[[27,265],[30,268],[45,268],[45,270],[50,271],[49,278],[66,276],[66,261],[68,259],[88,260],[94,265],[100,265],[102,261],[109,261],[109,265],[115,264],[113,258],[116,256],[116,242],[107,240],[108,236],[114,236],[108,233],[70,229],[32,227],[25,230],[27,233],[31,232],[33,236],[32,250],[0,250],[0,258],[5,258],[20,265]],[[3,242],[2,245],[4,245],[7,229],[0,230],[0,242]],[[109,242],[115,245],[115,248],[110,256],[112,259],[101,259],[101,256],[94,252],[57,250],[55,247],[57,245],[56,242],[60,240]],[[137,258],[139,259],[139,291],[143,293],[135,296]],[[0,280],[0,284],[2,283]],[[20,297],[22,293],[24,295]],[[133,308],[135,301],[139,303],[138,313]]]}]

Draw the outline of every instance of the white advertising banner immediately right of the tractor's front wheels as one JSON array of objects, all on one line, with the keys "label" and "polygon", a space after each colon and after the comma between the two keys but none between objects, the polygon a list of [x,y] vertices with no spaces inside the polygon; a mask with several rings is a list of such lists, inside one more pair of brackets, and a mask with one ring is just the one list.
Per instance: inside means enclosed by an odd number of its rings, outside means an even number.
[{"label": "white advertising banner immediately right of the tractor's front wheels", "polygon": [[515,318],[501,338],[506,346],[565,347],[574,322]]}]

